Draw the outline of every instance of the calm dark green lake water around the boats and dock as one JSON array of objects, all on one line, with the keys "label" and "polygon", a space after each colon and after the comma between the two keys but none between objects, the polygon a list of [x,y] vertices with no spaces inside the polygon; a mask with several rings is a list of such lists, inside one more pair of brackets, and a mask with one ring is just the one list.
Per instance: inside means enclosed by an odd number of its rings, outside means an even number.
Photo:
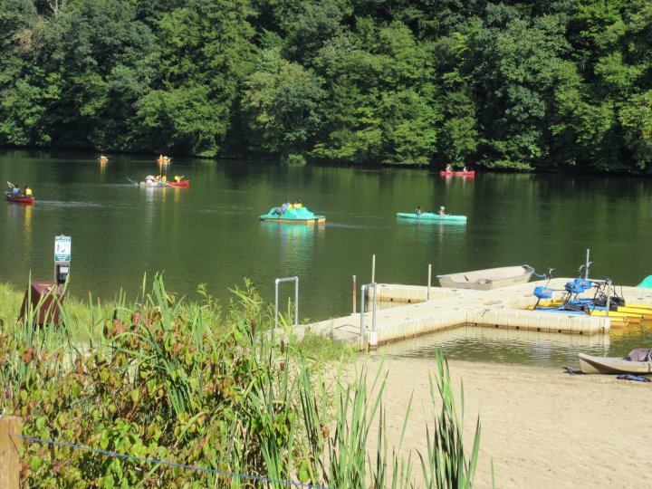
[{"label": "calm dark green lake water around the boats and dock", "polygon": [[[162,272],[172,292],[196,298],[198,284],[205,283],[223,302],[232,297],[229,288],[242,287],[247,277],[273,303],[274,279],[296,275],[300,318],[311,320],[351,311],[351,277],[357,275],[359,289],[370,282],[372,254],[380,283],[425,285],[428,264],[433,275],[531,264],[537,273],[552,267],[554,276],[573,276],[588,248],[592,277],[636,285],[652,274],[648,178],[440,177],[427,169],[291,168],[193,158],[174,158],[159,168],[156,156],[109,155],[105,165],[98,156],[0,150],[0,180],[27,184],[37,198],[34,206],[3,203],[0,281],[22,288],[30,273],[52,280],[55,235],[72,236],[70,290],[79,297],[90,292],[112,299],[122,289],[134,298],[144,273]],[[191,185],[129,184],[128,178],[159,173],[183,175]],[[325,225],[258,220],[285,198],[299,198],[325,215]],[[397,220],[397,212],[417,205],[426,211],[446,206],[468,216],[467,224]],[[283,283],[283,304],[291,296],[292,284]],[[565,364],[578,349],[619,355],[632,345],[652,346],[652,336],[642,330],[601,340],[456,331],[388,352],[424,356],[433,345],[444,345],[453,357]],[[505,347],[512,343],[517,346]]]}]

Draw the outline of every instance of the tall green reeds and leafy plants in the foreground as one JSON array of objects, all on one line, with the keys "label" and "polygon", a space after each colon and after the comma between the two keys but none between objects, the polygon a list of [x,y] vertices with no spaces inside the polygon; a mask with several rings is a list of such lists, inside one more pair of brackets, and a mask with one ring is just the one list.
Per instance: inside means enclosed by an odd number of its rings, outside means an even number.
[{"label": "tall green reeds and leafy plants in the foreground", "polygon": [[[277,337],[273,311],[250,283],[225,311],[205,289],[201,302],[177,299],[159,276],[147,290],[144,281],[129,303],[122,293],[107,305],[67,300],[56,325],[34,327],[35,311],[5,320],[0,380],[26,434],[273,481],[473,484],[479,424],[467,455],[443,357],[430,382],[440,414],[427,453],[417,454],[419,474],[412,454],[400,455],[408,415],[398,446],[388,445],[382,369],[370,377],[363,366],[351,379],[350,353],[329,339],[296,340],[291,310]],[[39,445],[25,446],[24,464],[30,486],[286,487]]]}]

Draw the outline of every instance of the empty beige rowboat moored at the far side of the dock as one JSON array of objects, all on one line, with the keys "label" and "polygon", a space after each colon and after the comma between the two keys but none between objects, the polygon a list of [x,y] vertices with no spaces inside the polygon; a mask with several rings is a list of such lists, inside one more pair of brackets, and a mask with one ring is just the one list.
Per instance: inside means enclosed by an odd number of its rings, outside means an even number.
[{"label": "empty beige rowboat moored at the far side of the dock", "polygon": [[527,283],[534,269],[530,265],[503,266],[487,268],[473,272],[448,273],[437,275],[442,287],[452,289],[472,289],[475,291],[490,291],[507,285]]}]

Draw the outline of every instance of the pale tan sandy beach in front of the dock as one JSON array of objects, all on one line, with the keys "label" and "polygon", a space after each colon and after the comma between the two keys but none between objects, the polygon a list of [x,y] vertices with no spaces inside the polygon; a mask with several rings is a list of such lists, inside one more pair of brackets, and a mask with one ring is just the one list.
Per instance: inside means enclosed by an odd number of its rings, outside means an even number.
[{"label": "pale tan sandy beach in front of the dock", "polygon": [[[388,372],[384,395],[388,442],[398,437],[413,395],[404,447],[426,454],[426,424],[435,408],[428,372],[434,360],[368,360]],[[467,453],[480,417],[475,487],[650,487],[652,383],[615,376],[570,376],[562,369],[450,361],[459,401],[465,391]],[[459,407],[459,402],[457,403]],[[373,442],[372,442],[373,443]],[[418,458],[414,472],[420,474]]]}]

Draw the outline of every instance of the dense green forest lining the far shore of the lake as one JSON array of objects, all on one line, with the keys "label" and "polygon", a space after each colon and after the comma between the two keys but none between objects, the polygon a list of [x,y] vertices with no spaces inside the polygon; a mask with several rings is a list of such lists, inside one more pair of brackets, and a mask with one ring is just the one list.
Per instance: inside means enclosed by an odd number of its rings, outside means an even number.
[{"label": "dense green forest lining the far shore of the lake", "polygon": [[649,0],[0,0],[0,145],[649,173]]}]

